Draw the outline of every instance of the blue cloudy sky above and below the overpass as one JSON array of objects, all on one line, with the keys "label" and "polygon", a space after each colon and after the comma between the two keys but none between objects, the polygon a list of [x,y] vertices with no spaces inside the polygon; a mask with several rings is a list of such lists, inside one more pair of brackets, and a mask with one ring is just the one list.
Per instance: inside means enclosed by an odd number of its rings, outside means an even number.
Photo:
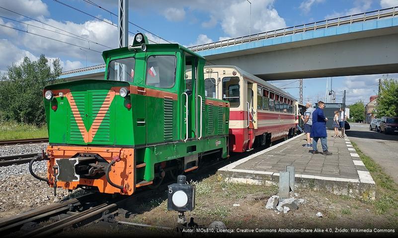
[{"label": "blue cloudy sky above and below the overpass", "polygon": [[[117,13],[117,2],[0,0],[0,73],[6,72],[12,63],[21,63],[24,57],[37,60],[40,54],[49,60],[59,58],[64,71],[103,63],[101,52],[118,47],[117,16],[110,13]],[[139,31],[157,43],[167,40],[193,46],[247,35],[249,29],[254,34],[398,6],[398,0],[250,2],[251,22],[247,0],[130,0],[129,20],[135,25],[129,24],[129,42],[132,43],[134,34]],[[341,102],[342,91],[346,90],[347,104],[358,100],[368,103],[369,97],[377,94],[379,78],[386,77],[398,79],[398,74],[333,77],[336,102]],[[326,79],[304,79],[303,101],[315,103],[318,99],[324,100]],[[328,80],[330,82],[331,78]],[[292,87],[285,90],[299,97],[297,80],[271,83],[279,87]]]}]

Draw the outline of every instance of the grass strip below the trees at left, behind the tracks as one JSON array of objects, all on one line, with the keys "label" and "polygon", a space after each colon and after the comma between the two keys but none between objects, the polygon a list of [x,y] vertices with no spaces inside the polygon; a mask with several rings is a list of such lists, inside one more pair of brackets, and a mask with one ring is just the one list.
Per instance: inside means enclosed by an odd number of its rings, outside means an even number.
[{"label": "grass strip below the trees at left, behind the tracks", "polygon": [[47,126],[36,127],[34,125],[15,122],[0,122],[0,140],[32,139],[48,137]]}]

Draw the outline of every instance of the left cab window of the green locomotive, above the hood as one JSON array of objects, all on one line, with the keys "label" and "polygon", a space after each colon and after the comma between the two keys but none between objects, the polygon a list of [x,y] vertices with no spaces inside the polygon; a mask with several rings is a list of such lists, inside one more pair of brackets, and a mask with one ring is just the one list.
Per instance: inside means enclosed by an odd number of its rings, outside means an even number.
[{"label": "left cab window of the green locomotive, above the hood", "polygon": [[132,57],[111,60],[108,67],[108,80],[133,82],[136,60]]}]

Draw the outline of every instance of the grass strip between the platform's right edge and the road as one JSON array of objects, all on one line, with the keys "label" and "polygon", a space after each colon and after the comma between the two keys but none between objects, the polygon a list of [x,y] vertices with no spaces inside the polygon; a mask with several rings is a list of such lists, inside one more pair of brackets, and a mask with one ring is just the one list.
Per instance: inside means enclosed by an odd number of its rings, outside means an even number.
[{"label": "grass strip between the platform's right edge and the road", "polygon": [[[376,183],[376,200],[372,202],[376,214],[385,214],[391,209],[398,208],[398,184],[384,172],[384,169],[372,158],[365,155],[355,144],[351,142],[357,151],[365,167],[369,170]],[[394,210],[393,210],[394,211]]]}]

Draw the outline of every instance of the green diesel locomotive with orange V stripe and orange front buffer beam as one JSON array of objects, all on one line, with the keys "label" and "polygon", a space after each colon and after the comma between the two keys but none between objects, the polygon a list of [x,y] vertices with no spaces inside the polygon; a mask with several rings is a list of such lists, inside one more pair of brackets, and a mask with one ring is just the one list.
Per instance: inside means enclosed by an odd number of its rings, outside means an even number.
[{"label": "green diesel locomotive with orange V stripe and orange front buffer beam", "polygon": [[[165,172],[197,169],[205,154],[228,157],[230,102],[206,97],[205,59],[178,44],[103,52],[104,80],[45,87],[47,181],[65,189],[131,195]],[[186,85],[185,71],[191,70]]]}]

